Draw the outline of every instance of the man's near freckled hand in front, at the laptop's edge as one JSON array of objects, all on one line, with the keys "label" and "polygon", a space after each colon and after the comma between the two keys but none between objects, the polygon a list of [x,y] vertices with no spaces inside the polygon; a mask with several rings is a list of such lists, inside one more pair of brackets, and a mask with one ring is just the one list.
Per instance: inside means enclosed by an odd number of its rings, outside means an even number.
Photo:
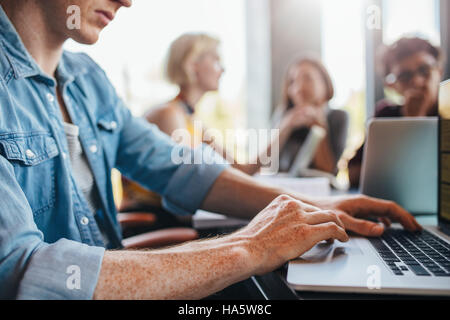
[{"label": "man's near freckled hand in front, at the laptop's edge", "polygon": [[276,269],[320,241],[348,240],[336,210],[321,210],[287,195],[277,197],[232,236],[248,241],[249,254],[260,262],[257,274]]}]

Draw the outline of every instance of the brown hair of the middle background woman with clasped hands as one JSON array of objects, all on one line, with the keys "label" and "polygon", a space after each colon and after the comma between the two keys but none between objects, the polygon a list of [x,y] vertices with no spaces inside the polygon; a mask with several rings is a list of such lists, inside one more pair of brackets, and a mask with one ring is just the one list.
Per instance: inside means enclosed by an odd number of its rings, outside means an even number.
[{"label": "brown hair of the middle background woman with clasped hands", "polygon": [[326,87],[326,94],[325,94],[325,100],[328,102],[331,99],[333,99],[334,96],[334,87],[333,82],[331,81],[330,74],[328,73],[327,69],[323,65],[323,63],[313,56],[300,56],[295,58],[286,69],[284,81],[283,81],[283,88],[282,88],[282,97],[281,97],[281,104],[283,108],[290,109],[294,106],[293,102],[289,98],[288,94],[288,87],[290,82],[290,73],[293,67],[302,65],[302,64],[309,64],[313,66],[314,68],[319,71],[320,75],[322,76],[323,83]]}]

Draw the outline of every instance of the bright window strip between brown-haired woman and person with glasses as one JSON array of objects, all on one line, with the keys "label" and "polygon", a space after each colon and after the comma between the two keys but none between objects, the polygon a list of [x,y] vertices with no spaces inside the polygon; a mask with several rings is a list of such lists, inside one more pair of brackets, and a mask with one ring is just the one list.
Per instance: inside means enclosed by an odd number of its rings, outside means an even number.
[{"label": "bright window strip between brown-haired woman and person with glasses", "polygon": [[321,5],[322,59],[335,89],[330,106],[346,110],[350,117],[347,149],[339,164],[345,169],[345,159],[351,158],[364,140],[365,7],[361,0],[322,0]]}]

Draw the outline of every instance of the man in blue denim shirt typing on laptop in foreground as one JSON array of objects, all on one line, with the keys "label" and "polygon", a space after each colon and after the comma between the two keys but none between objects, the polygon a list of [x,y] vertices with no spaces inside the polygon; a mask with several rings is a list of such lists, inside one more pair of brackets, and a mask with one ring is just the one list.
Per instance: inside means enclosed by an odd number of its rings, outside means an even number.
[{"label": "man in blue denim shirt typing on laptop in foreground", "polygon": [[[89,57],[62,49],[68,38],[95,43],[131,1],[0,5],[1,298],[201,298],[273,270],[319,241],[346,241],[344,229],[383,232],[357,217],[420,229],[391,202],[311,200],[225,165],[173,163],[171,139],[133,118]],[[66,27],[70,5],[80,9],[80,29]],[[254,218],[222,238],[154,251],[105,250],[121,241],[113,167],[160,193],[178,214],[203,208]]]}]

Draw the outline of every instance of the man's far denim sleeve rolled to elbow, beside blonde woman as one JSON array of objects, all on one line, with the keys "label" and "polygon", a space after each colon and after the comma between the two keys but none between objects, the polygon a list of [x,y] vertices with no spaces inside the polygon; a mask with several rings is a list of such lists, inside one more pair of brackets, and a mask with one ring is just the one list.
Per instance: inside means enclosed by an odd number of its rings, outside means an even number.
[{"label": "man's far denim sleeve rolled to elbow, beside blonde woman", "polygon": [[120,108],[124,125],[118,169],[126,177],[159,193],[163,206],[170,212],[195,213],[229,164],[207,145],[192,150],[175,144],[155,125],[132,117],[123,106]]}]

